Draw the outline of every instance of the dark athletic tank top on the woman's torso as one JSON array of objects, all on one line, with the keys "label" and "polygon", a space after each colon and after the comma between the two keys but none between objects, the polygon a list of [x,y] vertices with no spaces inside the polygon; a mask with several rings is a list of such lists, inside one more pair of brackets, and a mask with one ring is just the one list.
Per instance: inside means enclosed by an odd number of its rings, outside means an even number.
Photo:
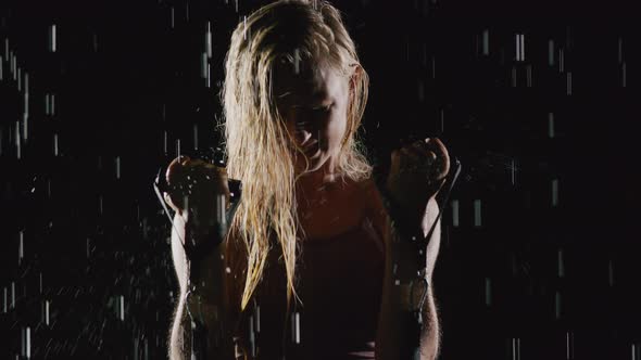
[{"label": "dark athletic tank top on the woman's torso", "polygon": [[382,240],[365,218],[347,232],[301,245],[297,292],[302,304],[287,313],[284,261],[273,246],[255,301],[241,320],[248,351],[261,360],[281,360],[284,353],[286,359],[374,359]]}]

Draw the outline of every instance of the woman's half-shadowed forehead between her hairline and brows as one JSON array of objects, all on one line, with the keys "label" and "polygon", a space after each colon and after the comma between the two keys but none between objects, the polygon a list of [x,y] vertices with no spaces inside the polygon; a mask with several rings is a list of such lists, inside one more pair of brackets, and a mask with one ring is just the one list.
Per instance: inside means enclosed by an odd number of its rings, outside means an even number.
[{"label": "woman's half-shadowed forehead between her hairline and brows", "polygon": [[298,73],[288,64],[278,64],[274,70],[273,93],[278,104],[305,105],[336,101],[343,95],[343,76],[327,65],[305,66],[301,62]]}]

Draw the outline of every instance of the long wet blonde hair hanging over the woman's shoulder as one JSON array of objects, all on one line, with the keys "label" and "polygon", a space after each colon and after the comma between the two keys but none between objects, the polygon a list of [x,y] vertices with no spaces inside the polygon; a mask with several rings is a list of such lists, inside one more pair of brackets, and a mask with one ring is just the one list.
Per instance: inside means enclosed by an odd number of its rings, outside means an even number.
[{"label": "long wet blonde hair hanging over the woman's shoulder", "polygon": [[272,78],[278,62],[298,69],[299,61],[305,66],[329,66],[351,79],[348,127],[337,155],[337,171],[355,181],[372,175],[364,146],[356,139],[369,80],[339,11],[325,1],[281,0],[252,13],[231,35],[221,92],[224,123],[219,126],[228,151],[227,172],[243,183],[230,226],[230,233],[242,242],[248,255],[241,309],[261,281],[271,235],[282,250],[288,304],[297,295],[293,134],[288,133],[276,106]]}]

